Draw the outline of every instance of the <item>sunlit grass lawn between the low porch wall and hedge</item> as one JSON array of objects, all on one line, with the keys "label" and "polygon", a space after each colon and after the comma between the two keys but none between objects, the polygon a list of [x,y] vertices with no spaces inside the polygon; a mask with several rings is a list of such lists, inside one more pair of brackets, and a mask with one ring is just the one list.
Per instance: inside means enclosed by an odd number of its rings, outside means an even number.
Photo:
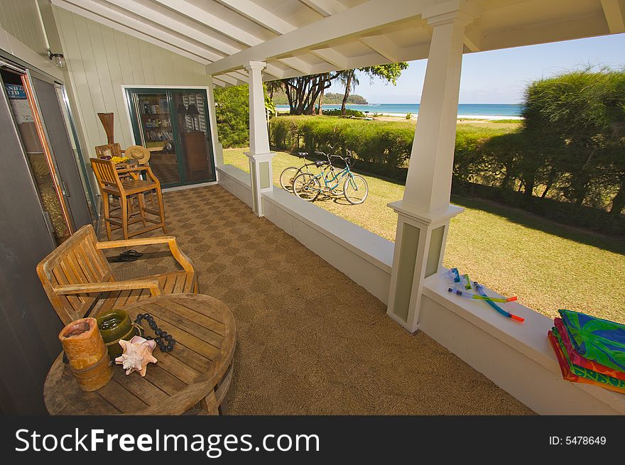
[{"label": "sunlit grass lawn between the low porch wall and hedge", "polygon": [[[246,149],[245,149],[246,150]],[[244,149],[224,150],[225,163],[249,171]],[[299,166],[299,158],[278,152],[273,182]],[[344,199],[315,204],[394,241],[397,217],[388,202],[403,197],[403,185],[365,176],[369,197],[362,205]],[[625,241],[580,231],[521,210],[480,199],[453,197],[465,212],[452,220],[444,265],[504,295],[554,317],[567,308],[625,323]]]}]

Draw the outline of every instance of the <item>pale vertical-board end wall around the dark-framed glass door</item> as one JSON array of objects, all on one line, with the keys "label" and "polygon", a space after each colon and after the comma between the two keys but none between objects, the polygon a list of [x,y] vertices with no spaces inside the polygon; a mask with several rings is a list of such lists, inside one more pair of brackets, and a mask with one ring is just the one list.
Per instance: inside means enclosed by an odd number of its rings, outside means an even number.
[{"label": "pale vertical-board end wall around the dark-framed glass door", "polygon": [[134,38],[126,33],[54,7],[70,83],[85,144],[85,157],[94,146],[107,143],[98,112],[115,114],[115,141],[122,148],[134,143],[126,116],[122,84],[149,86],[208,86],[199,62]]}]

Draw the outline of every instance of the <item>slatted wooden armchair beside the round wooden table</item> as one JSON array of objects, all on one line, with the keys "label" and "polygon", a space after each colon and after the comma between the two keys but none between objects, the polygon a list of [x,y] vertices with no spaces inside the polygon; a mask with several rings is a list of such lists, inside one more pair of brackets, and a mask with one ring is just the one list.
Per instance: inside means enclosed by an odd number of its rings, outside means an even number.
[{"label": "slatted wooden armchair beside the round wooden table", "polygon": [[[145,278],[115,280],[103,250],[151,244],[167,244],[183,270]],[[37,274],[63,324],[156,295],[198,292],[193,265],[178,248],[175,237],[100,242],[90,224],[82,226],[70,239],[40,261]]]}]

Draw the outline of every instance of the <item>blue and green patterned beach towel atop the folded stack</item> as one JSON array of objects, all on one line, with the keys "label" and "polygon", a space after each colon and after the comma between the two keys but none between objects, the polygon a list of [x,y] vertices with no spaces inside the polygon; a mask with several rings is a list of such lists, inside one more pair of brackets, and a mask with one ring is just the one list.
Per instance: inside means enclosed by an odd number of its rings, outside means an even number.
[{"label": "blue and green patterned beach towel atop the folded stack", "polygon": [[625,325],[572,310],[558,310],[578,354],[625,371]]}]

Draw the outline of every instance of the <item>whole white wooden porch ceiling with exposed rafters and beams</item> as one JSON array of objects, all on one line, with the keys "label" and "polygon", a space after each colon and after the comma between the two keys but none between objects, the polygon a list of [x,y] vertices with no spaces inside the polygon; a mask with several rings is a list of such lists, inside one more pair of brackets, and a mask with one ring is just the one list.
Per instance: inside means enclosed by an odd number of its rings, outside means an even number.
[{"label": "whole white wooden porch ceiling with exposed rafters and beams", "polygon": [[468,1],[465,52],[625,32],[625,0],[51,0],[55,6],[201,62],[217,85],[427,58],[420,15]]}]

